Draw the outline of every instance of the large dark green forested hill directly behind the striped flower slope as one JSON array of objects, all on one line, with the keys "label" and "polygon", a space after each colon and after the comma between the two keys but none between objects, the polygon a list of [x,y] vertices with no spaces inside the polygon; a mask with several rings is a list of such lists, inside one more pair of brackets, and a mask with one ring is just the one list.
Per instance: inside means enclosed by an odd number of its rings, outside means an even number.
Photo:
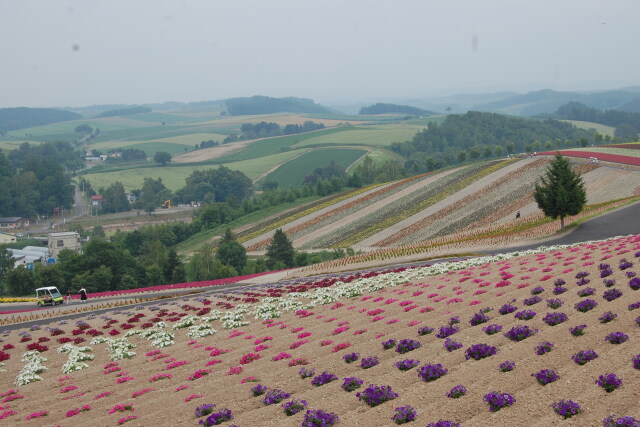
[{"label": "large dark green forested hill directly behind the striped flower slope", "polygon": [[391,149],[407,159],[407,166],[438,169],[468,159],[540,151],[560,146],[586,146],[595,132],[557,120],[533,120],[470,111],[430,123],[411,141],[394,142]]}]

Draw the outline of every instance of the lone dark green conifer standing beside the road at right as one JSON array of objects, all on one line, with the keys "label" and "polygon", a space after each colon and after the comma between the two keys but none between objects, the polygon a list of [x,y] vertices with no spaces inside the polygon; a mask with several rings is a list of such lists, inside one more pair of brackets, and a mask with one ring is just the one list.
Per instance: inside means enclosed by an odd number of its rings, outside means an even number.
[{"label": "lone dark green conifer standing beside the road at right", "polygon": [[587,193],[582,177],[573,171],[567,159],[559,153],[547,168],[540,183],[536,183],[533,197],[548,217],[560,217],[560,229],[564,228],[564,217],[576,215],[587,203]]}]

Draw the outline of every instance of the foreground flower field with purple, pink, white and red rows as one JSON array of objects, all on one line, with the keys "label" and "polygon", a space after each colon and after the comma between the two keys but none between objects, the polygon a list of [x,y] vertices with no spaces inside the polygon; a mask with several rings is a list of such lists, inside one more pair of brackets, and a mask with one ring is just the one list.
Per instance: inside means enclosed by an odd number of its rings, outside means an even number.
[{"label": "foreground flower field with purple, pink, white and red rows", "polygon": [[640,236],[209,291],[0,337],[7,425],[637,425]]}]

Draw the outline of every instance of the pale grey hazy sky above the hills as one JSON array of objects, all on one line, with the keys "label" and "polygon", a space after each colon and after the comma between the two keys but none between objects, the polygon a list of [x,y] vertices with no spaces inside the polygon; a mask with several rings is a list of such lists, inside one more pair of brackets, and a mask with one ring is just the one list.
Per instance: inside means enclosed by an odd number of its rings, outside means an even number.
[{"label": "pale grey hazy sky above the hills", "polygon": [[0,0],[0,107],[640,84],[638,0]]}]

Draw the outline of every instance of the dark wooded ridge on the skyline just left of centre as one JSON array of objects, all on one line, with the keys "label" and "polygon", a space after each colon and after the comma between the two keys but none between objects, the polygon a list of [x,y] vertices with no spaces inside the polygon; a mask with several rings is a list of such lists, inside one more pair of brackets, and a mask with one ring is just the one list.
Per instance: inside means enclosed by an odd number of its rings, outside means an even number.
[{"label": "dark wooded ridge on the skyline just left of centre", "polygon": [[252,96],[251,98],[230,98],[226,100],[227,110],[233,116],[271,113],[332,113],[326,107],[307,98],[272,98]]}]

